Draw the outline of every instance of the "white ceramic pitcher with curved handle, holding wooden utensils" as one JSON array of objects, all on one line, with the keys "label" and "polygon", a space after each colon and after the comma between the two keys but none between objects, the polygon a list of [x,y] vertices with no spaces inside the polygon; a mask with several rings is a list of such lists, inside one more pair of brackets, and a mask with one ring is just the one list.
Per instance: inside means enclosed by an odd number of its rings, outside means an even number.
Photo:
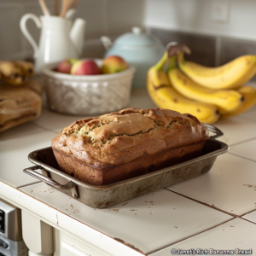
[{"label": "white ceramic pitcher with curved handle, holding wooden utensils", "polygon": [[[26,29],[26,20],[32,19],[41,29],[39,46]],[[34,49],[35,70],[40,73],[44,65],[68,58],[79,58],[84,46],[85,20],[72,20],[58,16],[26,14],[20,20],[20,29]],[[73,26],[72,26],[73,25]]]}]

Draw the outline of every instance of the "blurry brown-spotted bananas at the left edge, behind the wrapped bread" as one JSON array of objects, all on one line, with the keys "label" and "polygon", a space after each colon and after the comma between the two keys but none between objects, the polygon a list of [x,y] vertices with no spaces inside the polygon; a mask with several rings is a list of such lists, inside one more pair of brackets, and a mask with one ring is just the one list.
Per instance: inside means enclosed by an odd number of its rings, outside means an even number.
[{"label": "blurry brown-spotted bananas at the left edge, behind the wrapped bread", "polygon": [[34,66],[28,61],[0,61],[0,80],[5,84],[26,84],[34,74]]}]

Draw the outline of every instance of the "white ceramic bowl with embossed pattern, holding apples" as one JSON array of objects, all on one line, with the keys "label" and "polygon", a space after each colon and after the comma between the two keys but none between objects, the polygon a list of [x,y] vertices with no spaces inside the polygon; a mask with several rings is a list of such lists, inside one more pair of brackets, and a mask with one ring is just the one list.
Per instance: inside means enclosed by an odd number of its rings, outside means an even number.
[{"label": "white ceramic bowl with embossed pattern, holding apples", "polygon": [[[99,67],[102,60],[95,60]],[[110,113],[130,102],[134,67],[102,75],[71,75],[55,72],[58,63],[42,69],[49,108],[59,113]]]}]

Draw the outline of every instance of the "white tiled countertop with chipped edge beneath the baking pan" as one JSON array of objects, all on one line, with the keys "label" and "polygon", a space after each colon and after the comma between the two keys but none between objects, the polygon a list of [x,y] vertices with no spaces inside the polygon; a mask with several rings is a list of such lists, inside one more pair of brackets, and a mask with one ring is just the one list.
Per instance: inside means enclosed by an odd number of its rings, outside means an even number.
[{"label": "white tiled countertop with chipped edge beneath the baking pan", "polygon": [[[154,108],[146,90],[129,107]],[[214,125],[230,151],[210,172],[105,209],[87,207],[22,172],[27,155],[50,146],[84,116],[53,113],[0,134],[0,198],[56,230],[101,248],[101,255],[172,255],[172,249],[252,250],[256,255],[256,107]],[[215,253],[216,254],[216,253]]]}]

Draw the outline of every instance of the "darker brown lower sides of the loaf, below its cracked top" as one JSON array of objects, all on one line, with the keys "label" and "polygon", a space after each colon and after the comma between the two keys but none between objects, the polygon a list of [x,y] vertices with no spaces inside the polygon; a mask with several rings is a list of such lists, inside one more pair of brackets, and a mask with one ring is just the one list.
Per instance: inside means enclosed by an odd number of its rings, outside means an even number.
[{"label": "darker brown lower sides of the loaf, below its cracked top", "polygon": [[[55,149],[53,152],[62,172],[67,173],[71,177],[78,178],[84,183],[106,185],[154,172],[198,157],[201,154],[204,143],[205,142],[201,142],[189,146],[173,148],[161,152],[160,154],[145,155],[142,158],[133,160],[124,165],[110,166],[108,168],[90,166],[74,158],[73,154],[63,154]],[[178,177],[179,174],[177,173],[177,179]]]}]

